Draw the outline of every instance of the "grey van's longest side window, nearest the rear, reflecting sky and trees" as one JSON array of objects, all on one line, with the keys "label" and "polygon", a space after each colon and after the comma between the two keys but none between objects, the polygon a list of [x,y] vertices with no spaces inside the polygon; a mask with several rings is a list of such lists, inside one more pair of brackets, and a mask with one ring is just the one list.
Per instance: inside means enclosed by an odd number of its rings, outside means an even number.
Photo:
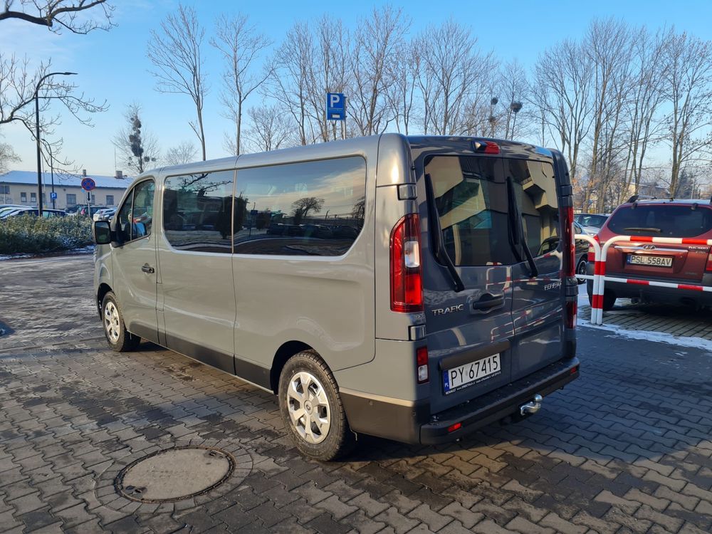
[{"label": "grey van's longest side window, nearest the rear, reflecting sky and trees", "polygon": [[363,226],[366,162],[325,159],[237,173],[234,251],[340,256]]}]

